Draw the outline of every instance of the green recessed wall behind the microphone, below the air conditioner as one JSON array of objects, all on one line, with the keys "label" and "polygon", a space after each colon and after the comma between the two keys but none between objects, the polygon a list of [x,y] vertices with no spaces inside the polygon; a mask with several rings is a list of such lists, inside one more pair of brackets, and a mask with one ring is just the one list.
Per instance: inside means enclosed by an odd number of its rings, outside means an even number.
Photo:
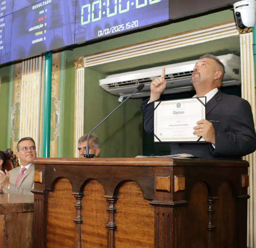
[{"label": "green recessed wall behind the microphone, below the air conditioner", "polygon": [[[106,75],[85,69],[85,133],[89,133],[120,102],[99,86]],[[94,133],[101,141],[100,157],[134,157],[142,149],[141,99],[129,99]]]}]

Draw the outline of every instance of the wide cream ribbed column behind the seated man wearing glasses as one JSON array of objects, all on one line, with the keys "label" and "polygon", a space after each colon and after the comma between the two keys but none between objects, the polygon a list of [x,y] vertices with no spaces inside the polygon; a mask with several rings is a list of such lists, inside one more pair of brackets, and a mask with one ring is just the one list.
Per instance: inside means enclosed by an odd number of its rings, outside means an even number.
[{"label": "wide cream ribbed column behind the seated man wearing glasses", "polygon": [[[14,66],[12,134],[14,142],[32,137],[39,147],[42,57]],[[16,88],[17,87],[17,88]],[[18,125],[19,124],[19,130]]]}]

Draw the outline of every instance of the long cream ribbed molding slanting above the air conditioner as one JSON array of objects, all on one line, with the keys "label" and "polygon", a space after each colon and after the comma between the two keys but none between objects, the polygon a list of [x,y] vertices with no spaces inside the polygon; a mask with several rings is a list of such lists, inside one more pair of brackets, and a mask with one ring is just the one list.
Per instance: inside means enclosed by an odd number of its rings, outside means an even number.
[{"label": "long cream ribbed molding slanting above the air conditioner", "polygon": [[[239,33],[236,23],[234,21],[229,21],[201,29],[166,36],[160,39],[123,46],[114,50],[86,55],[84,56],[84,67],[110,63],[113,61],[124,60],[150,53],[166,51],[238,35]],[[81,66],[81,63],[79,63],[79,66]]]}]

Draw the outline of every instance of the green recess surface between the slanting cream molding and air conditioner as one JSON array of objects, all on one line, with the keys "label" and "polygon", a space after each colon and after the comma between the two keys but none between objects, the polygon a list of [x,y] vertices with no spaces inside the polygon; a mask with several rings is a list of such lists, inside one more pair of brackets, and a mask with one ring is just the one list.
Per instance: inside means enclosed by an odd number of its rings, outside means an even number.
[{"label": "green recess surface between the slanting cream molding and air conditioner", "polygon": [[95,65],[90,67],[90,69],[109,75],[112,73],[121,73],[188,60],[196,60],[206,53],[213,53],[214,55],[234,53],[240,55],[239,35],[106,64]]}]

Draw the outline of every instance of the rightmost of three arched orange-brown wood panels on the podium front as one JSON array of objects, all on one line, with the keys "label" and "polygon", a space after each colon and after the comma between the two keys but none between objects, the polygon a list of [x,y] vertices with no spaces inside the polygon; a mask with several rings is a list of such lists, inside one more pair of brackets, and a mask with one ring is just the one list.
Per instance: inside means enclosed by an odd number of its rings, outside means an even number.
[{"label": "rightmost of three arched orange-brown wood panels on the podium front", "polygon": [[154,207],[134,182],[121,185],[116,202],[115,248],[154,247]]}]

